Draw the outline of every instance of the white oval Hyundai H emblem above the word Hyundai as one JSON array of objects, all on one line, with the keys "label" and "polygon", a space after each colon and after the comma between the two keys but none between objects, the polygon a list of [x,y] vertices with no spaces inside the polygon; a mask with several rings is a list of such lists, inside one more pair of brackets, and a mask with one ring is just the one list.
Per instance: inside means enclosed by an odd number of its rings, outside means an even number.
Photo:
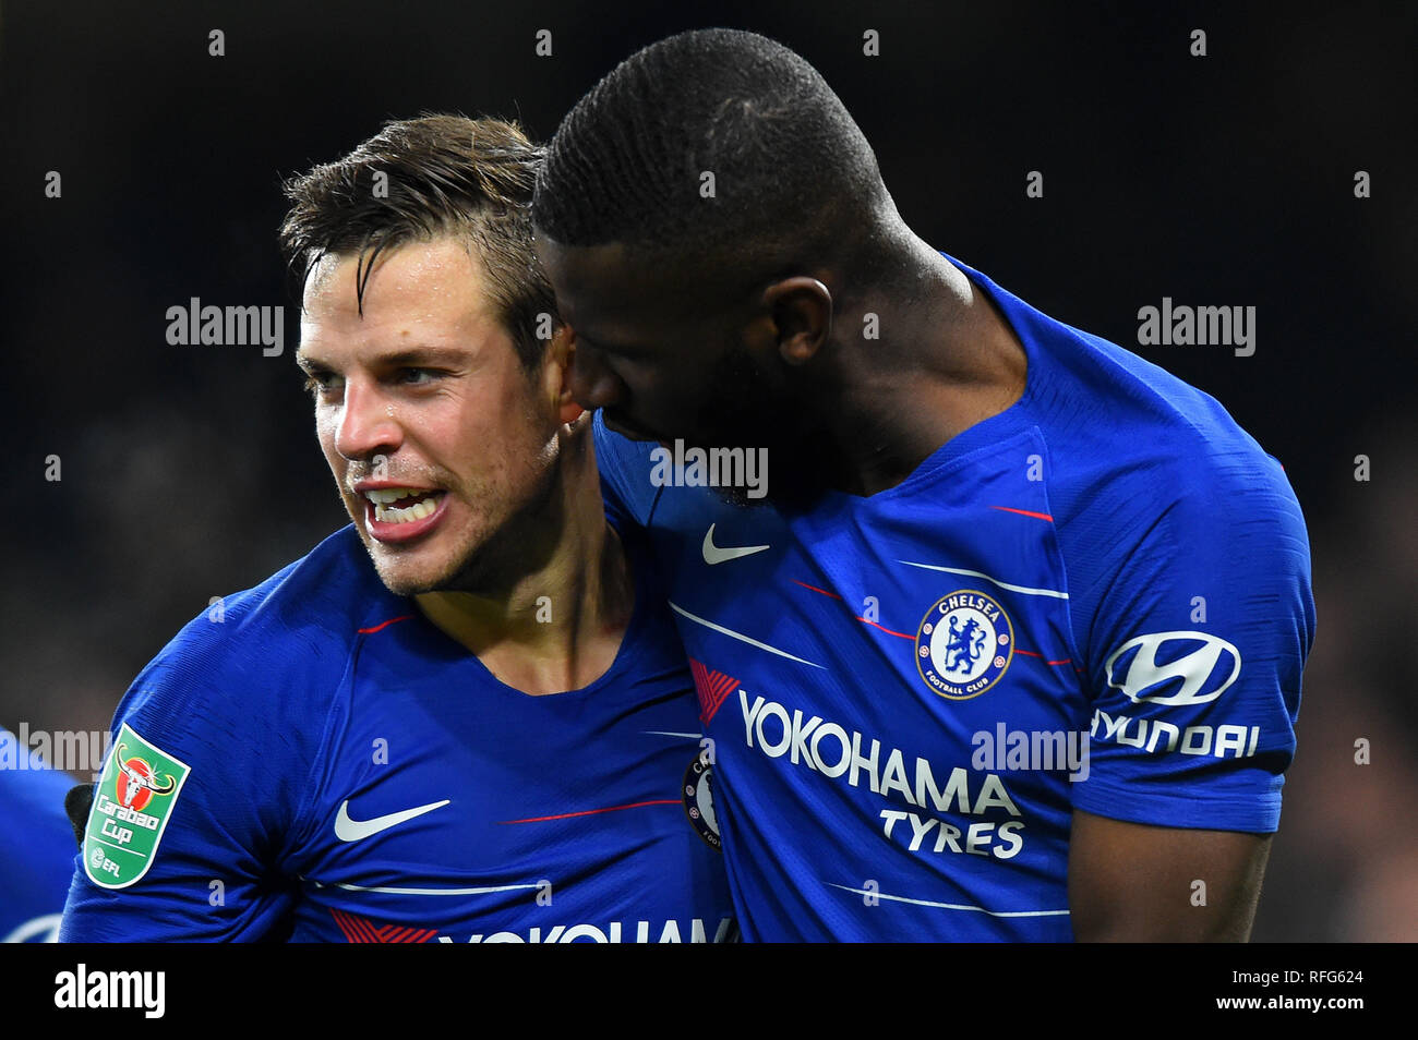
[{"label": "white oval Hyundai H emblem above the word Hyundai", "polygon": [[1205,704],[1241,674],[1241,652],[1207,632],[1156,632],[1119,646],[1106,669],[1107,684],[1139,704]]}]

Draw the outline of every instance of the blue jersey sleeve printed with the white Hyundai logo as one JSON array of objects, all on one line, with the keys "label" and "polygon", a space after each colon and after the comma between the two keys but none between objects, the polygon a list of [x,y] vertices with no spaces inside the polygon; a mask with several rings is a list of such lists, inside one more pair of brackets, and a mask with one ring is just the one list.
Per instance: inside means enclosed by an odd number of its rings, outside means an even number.
[{"label": "blue jersey sleeve printed with the white Hyundai logo", "polygon": [[1119,497],[1116,514],[1139,516],[1123,497],[1156,509],[1075,604],[1093,713],[1073,805],[1134,823],[1273,832],[1314,636],[1289,482],[1254,442],[1202,445],[1106,496]]}]

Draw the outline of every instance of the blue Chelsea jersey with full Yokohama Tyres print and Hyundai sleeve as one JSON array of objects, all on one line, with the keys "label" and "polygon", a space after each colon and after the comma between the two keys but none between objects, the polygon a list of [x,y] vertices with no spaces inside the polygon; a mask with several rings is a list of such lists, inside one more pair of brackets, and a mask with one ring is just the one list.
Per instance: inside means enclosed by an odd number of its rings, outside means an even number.
[{"label": "blue Chelsea jersey with full Yokohama Tyres print and Hyundai sleeve", "polygon": [[692,659],[744,939],[1066,941],[1075,808],[1279,822],[1314,632],[1280,465],[956,264],[1027,387],[895,487],[735,507],[712,459],[596,428]]}]

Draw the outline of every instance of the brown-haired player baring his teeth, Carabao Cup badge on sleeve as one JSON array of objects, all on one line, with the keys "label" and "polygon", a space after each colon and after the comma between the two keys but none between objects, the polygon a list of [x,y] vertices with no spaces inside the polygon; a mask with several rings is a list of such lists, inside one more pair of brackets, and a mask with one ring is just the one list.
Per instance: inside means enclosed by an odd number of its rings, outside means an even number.
[{"label": "brown-haired player baring his teeth, Carabao Cup badge on sleeve", "polygon": [[352,524],[133,682],[62,939],[733,935],[693,684],[532,254],[540,154],[428,116],[288,186]]}]

